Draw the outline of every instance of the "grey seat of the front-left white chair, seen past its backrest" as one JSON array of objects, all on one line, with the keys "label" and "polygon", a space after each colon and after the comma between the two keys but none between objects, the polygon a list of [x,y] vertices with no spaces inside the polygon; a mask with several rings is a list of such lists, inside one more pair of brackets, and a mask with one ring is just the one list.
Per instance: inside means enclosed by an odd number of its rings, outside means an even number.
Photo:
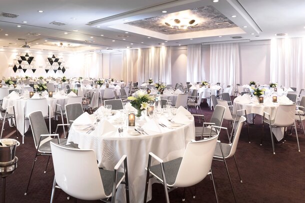
[{"label": "grey seat of the front-left white chair, seen past its backrest", "polygon": [[[113,186],[113,171],[108,171],[99,168],[99,174],[102,181],[102,186],[104,188],[104,192],[106,196],[109,196],[112,193]],[[116,184],[120,182],[123,178],[124,173],[117,172]]]}]

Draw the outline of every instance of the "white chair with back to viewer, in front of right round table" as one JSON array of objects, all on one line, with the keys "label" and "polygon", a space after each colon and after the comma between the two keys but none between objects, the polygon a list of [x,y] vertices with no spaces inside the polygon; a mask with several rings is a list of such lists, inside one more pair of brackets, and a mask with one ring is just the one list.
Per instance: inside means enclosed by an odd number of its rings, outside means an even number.
[{"label": "white chair with back to viewer, in front of right round table", "polygon": [[[274,143],[273,143],[273,136],[272,136],[272,128],[284,128],[284,133],[285,133],[287,127],[294,127],[296,141],[297,141],[297,148],[298,148],[298,151],[300,152],[297,131],[296,131],[296,127],[295,127],[294,114],[295,114],[295,104],[278,105],[274,120],[270,119],[270,114],[268,114],[267,112],[263,112],[262,134],[261,134],[260,145],[262,145],[263,125],[264,124],[269,125],[269,128],[270,128],[270,136],[271,136],[273,154],[275,154],[275,150],[274,150]],[[284,137],[285,137],[285,135],[284,135]]]}]

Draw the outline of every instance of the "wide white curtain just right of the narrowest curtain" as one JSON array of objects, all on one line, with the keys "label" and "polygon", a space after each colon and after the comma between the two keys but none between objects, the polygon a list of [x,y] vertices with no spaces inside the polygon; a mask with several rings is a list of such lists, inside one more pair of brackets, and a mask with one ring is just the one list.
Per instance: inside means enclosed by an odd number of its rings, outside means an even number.
[{"label": "wide white curtain just right of the narrowest curtain", "polygon": [[239,83],[238,43],[210,45],[210,82],[226,87]]}]

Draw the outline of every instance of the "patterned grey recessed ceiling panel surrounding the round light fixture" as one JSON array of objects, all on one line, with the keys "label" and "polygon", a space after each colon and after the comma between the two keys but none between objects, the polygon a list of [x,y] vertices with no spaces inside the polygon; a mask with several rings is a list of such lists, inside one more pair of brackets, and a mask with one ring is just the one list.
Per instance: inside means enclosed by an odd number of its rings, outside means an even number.
[{"label": "patterned grey recessed ceiling panel surrounding the round light fixture", "polygon": [[[184,18],[196,19],[197,25],[189,29],[174,29],[165,25],[168,19]],[[237,27],[231,20],[216,10],[213,6],[203,6],[191,10],[164,14],[155,17],[149,17],[141,20],[126,22],[125,24],[156,31],[162,34],[180,34],[185,32],[204,31],[212,29],[222,29]]]}]

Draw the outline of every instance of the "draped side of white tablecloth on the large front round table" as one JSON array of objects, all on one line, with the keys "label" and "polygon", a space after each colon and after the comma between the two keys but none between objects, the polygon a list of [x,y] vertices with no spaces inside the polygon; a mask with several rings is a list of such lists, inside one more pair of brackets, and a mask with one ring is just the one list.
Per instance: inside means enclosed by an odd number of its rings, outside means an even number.
[{"label": "draped side of white tablecloth on the large front round table", "polygon": [[[67,141],[78,144],[80,149],[94,150],[98,167],[107,170],[113,170],[121,156],[127,155],[130,203],[139,203],[143,202],[144,198],[146,178],[144,168],[147,165],[148,153],[152,152],[162,160],[170,161],[182,157],[187,143],[194,139],[193,117],[185,125],[174,129],[161,129],[162,133],[146,131],[149,135],[135,136],[129,134],[135,132],[134,127],[128,127],[127,134],[119,137],[117,131],[109,136],[86,134],[72,124]],[[153,160],[152,164],[155,165],[157,162]],[[151,184],[149,184],[147,200],[151,199]],[[118,188],[115,202],[125,203],[125,191],[122,186]]]}]

